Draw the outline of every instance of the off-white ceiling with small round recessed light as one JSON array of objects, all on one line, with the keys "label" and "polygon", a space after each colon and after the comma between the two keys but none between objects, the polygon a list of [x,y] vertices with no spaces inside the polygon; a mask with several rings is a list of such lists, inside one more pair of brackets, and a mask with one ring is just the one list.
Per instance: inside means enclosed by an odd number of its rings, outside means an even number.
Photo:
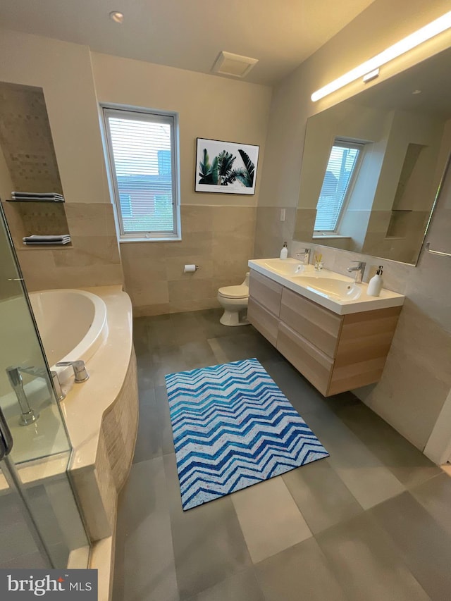
[{"label": "off-white ceiling with small round recessed light", "polygon": [[[258,58],[245,80],[273,85],[372,1],[1,0],[0,24],[201,73],[225,50]],[[124,14],[123,25],[110,11]]]}]

